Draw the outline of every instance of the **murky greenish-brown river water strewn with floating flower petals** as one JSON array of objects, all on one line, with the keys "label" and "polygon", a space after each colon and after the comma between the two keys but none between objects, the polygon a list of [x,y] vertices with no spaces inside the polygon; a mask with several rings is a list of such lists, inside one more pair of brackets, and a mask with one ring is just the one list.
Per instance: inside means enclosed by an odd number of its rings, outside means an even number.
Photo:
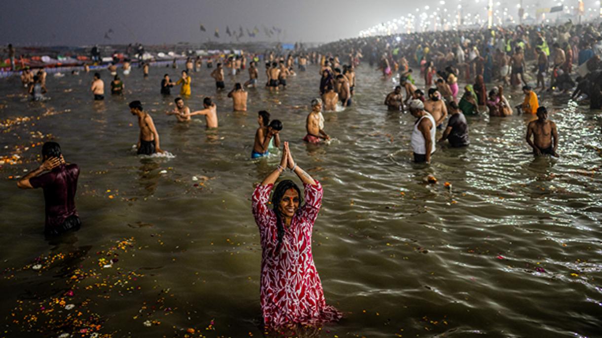
[{"label": "murky greenish-brown river water strewn with floating flower petals", "polygon": [[[217,132],[164,114],[175,97],[159,94],[164,73],[179,72],[133,69],[125,96],[104,102],[92,101],[92,73],[49,75],[43,103],[26,101],[18,79],[0,82],[0,154],[19,156],[0,168],[0,336],[261,335],[250,195],[279,160],[249,159],[261,109],[283,121],[297,164],[324,186],[313,251],[326,300],[345,318],[318,335],[602,335],[600,111],[544,99],[556,103],[557,159],[531,155],[530,115],[468,117],[470,147],[439,145],[426,166],[411,162],[414,118],[386,111],[394,84],[367,64],[353,106],[324,113],[335,140],[318,147],[301,140],[315,66],[286,91],[250,89],[247,113],[231,111],[208,69],[193,73],[186,103],[201,109],[212,96]],[[246,79],[226,76],[226,88]],[[522,99],[506,94],[513,106]],[[175,157],[135,155],[135,99]],[[51,139],[81,167],[83,225],[49,240],[42,192],[20,191],[15,177]],[[429,174],[439,182],[427,184]]]}]

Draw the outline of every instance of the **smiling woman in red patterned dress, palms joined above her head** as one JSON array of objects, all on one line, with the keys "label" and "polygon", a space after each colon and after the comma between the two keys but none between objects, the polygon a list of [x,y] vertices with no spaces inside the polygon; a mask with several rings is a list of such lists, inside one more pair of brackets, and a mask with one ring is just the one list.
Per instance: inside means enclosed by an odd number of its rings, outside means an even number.
[{"label": "smiling woman in red patterned dress, palms joined above her head", "polygon": [[[285,168],[303,182],[305,204],[291,180],[278,183],[267,207],[274,182]],[[322,186],[293,161],[284,143],[276,170],[255,188],[253,216],[261,239],[261,312],[268,329],[319,326],[338,321],[341,312],[326,305],[311,250],[311,235],[322,204]]]}]

